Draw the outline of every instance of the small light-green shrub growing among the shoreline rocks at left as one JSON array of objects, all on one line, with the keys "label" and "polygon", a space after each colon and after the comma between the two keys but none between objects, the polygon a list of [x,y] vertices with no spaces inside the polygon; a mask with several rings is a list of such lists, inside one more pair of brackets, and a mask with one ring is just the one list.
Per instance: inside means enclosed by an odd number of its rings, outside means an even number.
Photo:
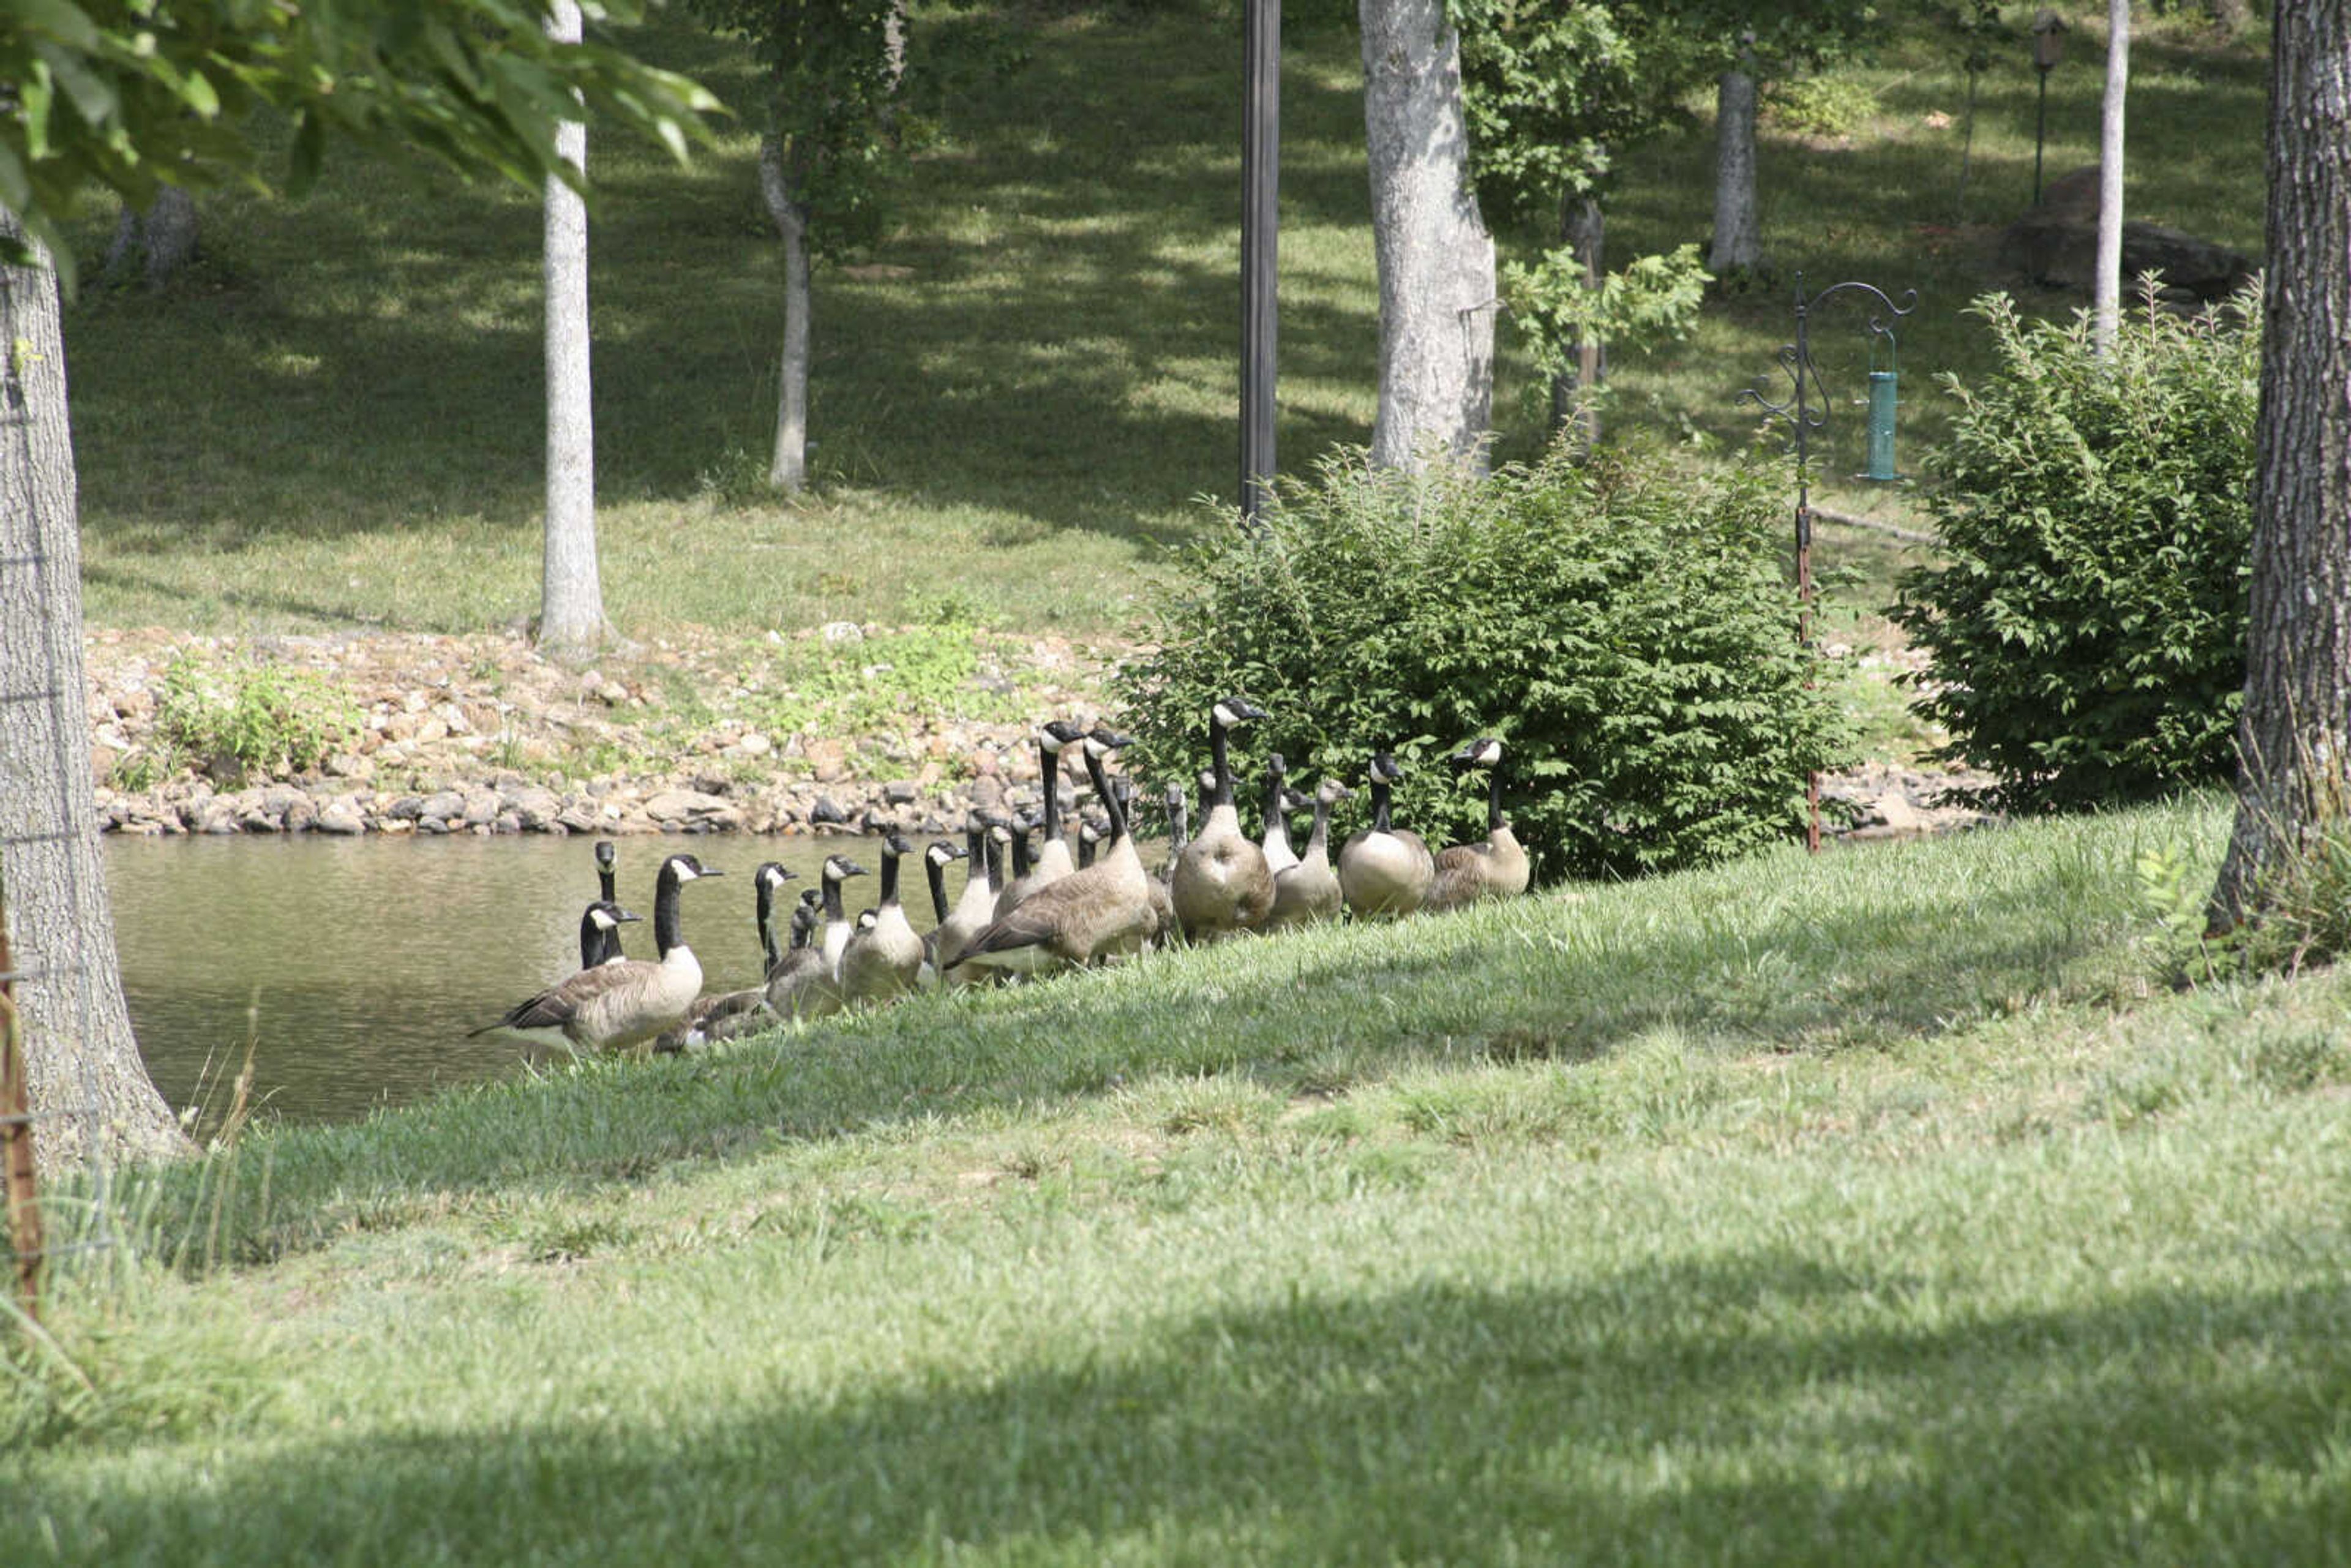
[{"label": "small light-green shrub growing among the shoreline rocks at left", "polygon": [[324,764],[357,726],[357,710],[329,682],[275,663],[219,670],[181,654],[155,684],[165,773],[233,766],[287,778]]}]

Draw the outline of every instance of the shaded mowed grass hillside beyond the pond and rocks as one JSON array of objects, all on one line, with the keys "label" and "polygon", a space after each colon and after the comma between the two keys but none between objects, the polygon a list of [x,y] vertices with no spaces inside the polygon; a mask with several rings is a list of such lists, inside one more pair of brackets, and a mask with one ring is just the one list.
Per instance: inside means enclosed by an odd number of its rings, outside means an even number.
[{"label": "shaded mowed grass hillside beyond the pond and rocks", "polygon": [[[2020,12],[2022,14],[2022,12]],[[882,237],[818,273],[813,468],[799,505],[750,484],[773,421],[781,261],[759,209],[745,54],[682,16],[632,33],[743,110],[689,172],[600,136],[597,470],[607,604],[630,635],[910,616],[962,595],[985,616],[1133,632],[1159,545],[1218,527],[1237,484],[1239,31],[1213,5],[1053,16],[917,14],[955,61],[917,108],[936,139]],[[2095,158],[2097,35],[2050,78],[2052,174]],[[1302,24],[1284,66],[1281,463],[1368,437],[1378,284],[1352,31]],[[1773,395],[1810,289],[1862,277],[1902,327],[1904,473],[1982,374],[1968,299],[2015,287],[1996,228],[2031,193],[2034,73],[1984,75],[1965,200],[1956,54],[1900,24],[1843,80],[1848,134],[1770,122],[1766,244],[1780,280],[1716,299],[1688,343],[1617,353],[1617,428],[1726,454]],[[2130,209],[2259,249],[2264,38],[2184,21],[2132,49]],[[1627,150],[1610,259],[1702,240],[1712,103]],[[87,228],[89,249],[106,214]],[[1505,235],[1528,254],[1538,235]],[[538,207],[339,158],[303,202],[205,200],[207,259],[162,299],[92,284],[68,310],[87,607],[96,623],[477,630],[536,611],[541,517]],[[2034,294],[2029,310],[2078,301]],[[1540,421],[1502,329],[1498,449]],[[1862,315],[1813,331],[1831,425],[1822,494],[1914,520],[1860,465]],[[1824,536],[1834,564],[1841,536]],[[912,614],[912,618],[922,618]]]}]

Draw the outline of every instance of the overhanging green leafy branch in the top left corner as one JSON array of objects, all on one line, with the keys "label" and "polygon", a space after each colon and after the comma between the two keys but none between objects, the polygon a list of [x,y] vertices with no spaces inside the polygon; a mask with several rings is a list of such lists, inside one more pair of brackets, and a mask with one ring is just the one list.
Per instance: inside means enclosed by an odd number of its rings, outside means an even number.
[{"label": "overhanging green leafy branch in the top left corner", "polygon": [[[583,7],[637,19],[637,0]],[[71,275],[56,223],[89,186],[303,190],[329,136],[522,183],[564,174],[574,103],[684,162],[717,99],[602,45],[545,35],[543,0],[26,0],[0,12],[0,207]],[[256,108],[294,122],[263,169]],[[569,174],[567,174],[569,179]]]}]

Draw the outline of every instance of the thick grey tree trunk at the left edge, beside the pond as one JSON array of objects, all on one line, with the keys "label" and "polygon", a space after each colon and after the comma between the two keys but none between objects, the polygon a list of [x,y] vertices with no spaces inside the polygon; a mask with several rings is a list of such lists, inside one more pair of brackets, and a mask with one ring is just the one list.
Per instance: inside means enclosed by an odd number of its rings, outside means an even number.
[{"label": "thick grey tree trunk at the left edge, beside the pond", "polygon": [[[24,237],[7,209],[0,235]],[[183,1152],[132,1037],[99,860],[66,346],[38,249],[0,263],[0,900],[42,1164]]]}]

